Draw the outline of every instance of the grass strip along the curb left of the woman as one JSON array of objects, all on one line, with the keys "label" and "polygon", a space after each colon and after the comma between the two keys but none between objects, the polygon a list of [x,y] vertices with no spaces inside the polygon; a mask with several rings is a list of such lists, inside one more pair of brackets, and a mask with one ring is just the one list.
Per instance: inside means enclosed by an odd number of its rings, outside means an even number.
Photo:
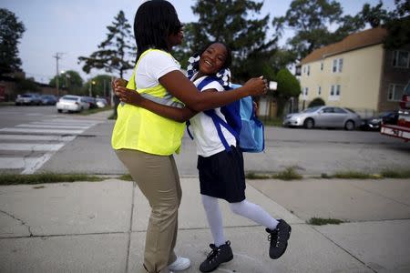
[{"label": "grass strip along the curb left of the woman", "polygon": [[81,174],[41,173],[34,175],[0,174],[0,185],[35,185],[75,181],[103,181],[105,178]]}]

